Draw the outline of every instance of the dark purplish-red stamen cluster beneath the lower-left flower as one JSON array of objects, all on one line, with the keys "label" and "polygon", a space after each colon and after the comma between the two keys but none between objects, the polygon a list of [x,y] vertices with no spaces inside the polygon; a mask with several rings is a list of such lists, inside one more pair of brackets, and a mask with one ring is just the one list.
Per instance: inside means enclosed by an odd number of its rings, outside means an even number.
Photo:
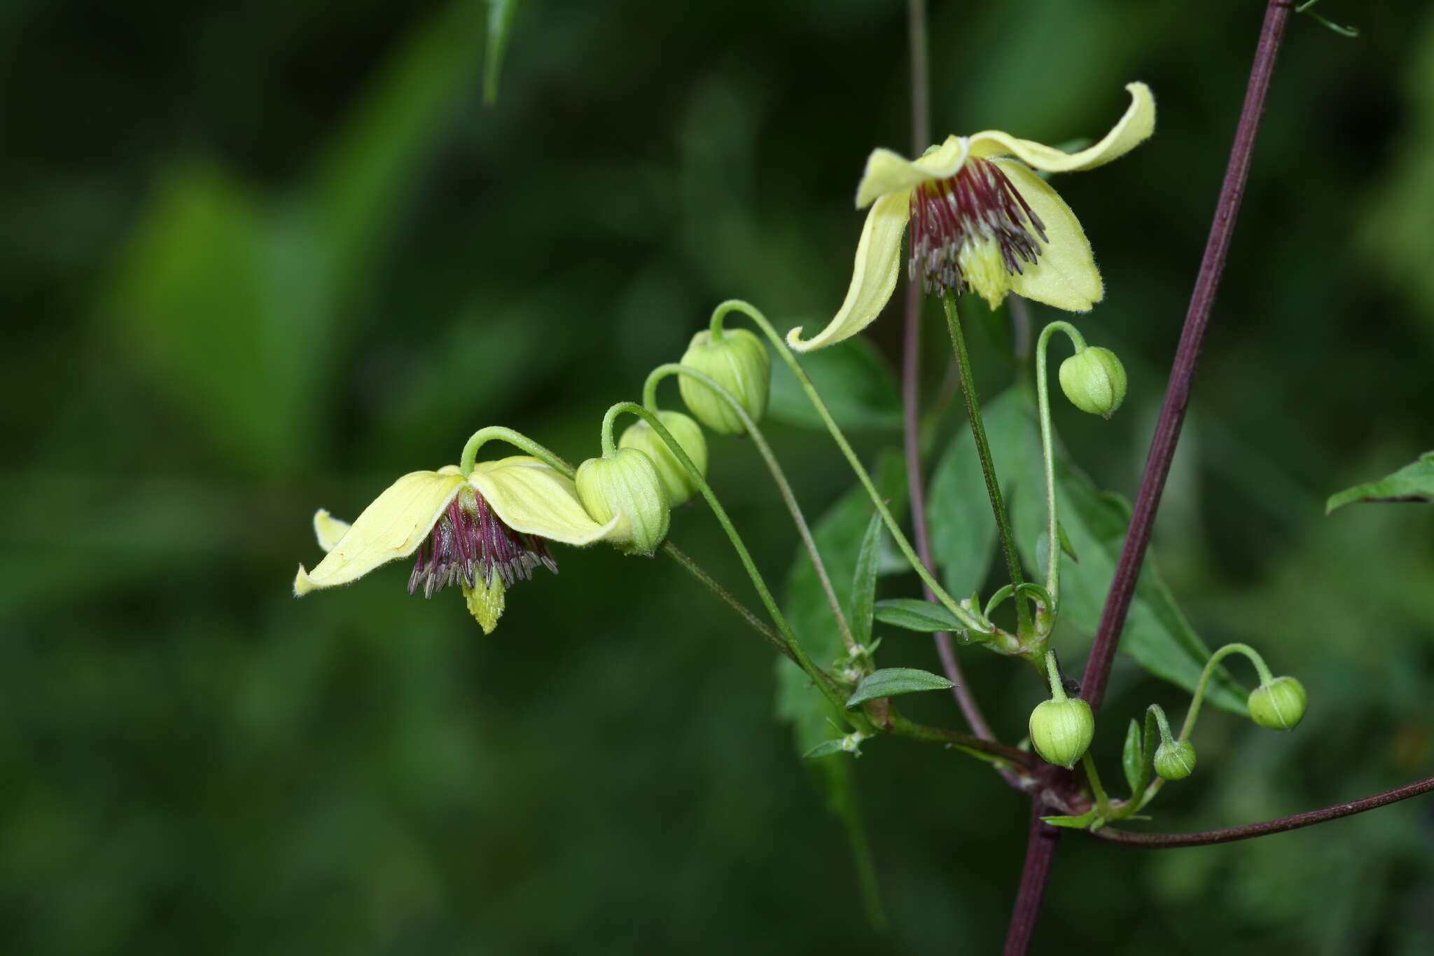
[{"label": "dark purplish-red stamen cluster beneath the lower-left flower", "polygon": [[515,532],[482,494],[463,487],[419,546],[409,593],[419,585],[424,598],[456,583],[476,588],[479,579],[490,583],[495,573],[511,588],[515,580],[532,578],[538,565],[558,573],[558,562],[541,537]]}]

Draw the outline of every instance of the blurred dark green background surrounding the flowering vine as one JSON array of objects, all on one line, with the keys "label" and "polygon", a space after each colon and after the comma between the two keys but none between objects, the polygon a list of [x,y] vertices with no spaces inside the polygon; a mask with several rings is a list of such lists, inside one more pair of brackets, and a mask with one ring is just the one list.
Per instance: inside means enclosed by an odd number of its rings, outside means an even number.
[{"label": "blurred dark green background surrounding the flowering vine", "polygon": [[[1131,398],[1057,427],[1126,494],[1262,6],[931,3],[939,135],[1098,136],[1121,83],[1156,90],[1154,139],[1060,183],[1108,290],[1080,325]],[[1312,704],[1291,737],[1210,712],[1159,830],[1434,765],[1434,509],[1322,516],[1434,446],[1434,16],[1319,9],[1364,36],[1291,23],[1157,542],[1206,641],[1256,644]],[[290,595],[315,507],[353,517],[483,424],[595,454],[602,410],[720,300],[823,322],[865,156],[909,143],[901,3],[525,4],[492,109],[486,19],[466,0],[0,11],[6,950],[994,952],[1025,800],[952,752],[868,744],[875,935],[773,721],[773,655],[671,562],[559,549],[562,575],[515,588],[486,639],[456,595],[406,596],[400,568]],[[895,314],[870,333],[888,355]],[[1011,373],[977,340],[994,394]],[[869,424],[863,454],[899,440]],[[770,437],[810,515],[850,484],[823,436]],[[780,583],[796,539],[750,443],[713,456]],[[673,535],[750,595],[703,509]],[[1018,738],[1028,674],[964,661]],[[882,662],[938,666],[909,634]],[[911,709],[959,725],[928,697]],[[1182,699],[1121,661],[1097,755],[1113,768],[1127,717]],[[1073,834],[1047,900],[1037,952],[1434,952],[1434,804],[1183,851]]]}]

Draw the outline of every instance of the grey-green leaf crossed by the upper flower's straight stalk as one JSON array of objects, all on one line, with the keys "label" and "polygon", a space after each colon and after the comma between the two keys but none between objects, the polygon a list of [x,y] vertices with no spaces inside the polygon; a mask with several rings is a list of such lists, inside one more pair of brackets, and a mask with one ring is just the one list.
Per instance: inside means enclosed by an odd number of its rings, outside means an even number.
[{"label": "grey-green leaf crossed by the upper flower's straight stalk", "polygon": [[[1010,503],[1014,489],[1032,479],[1037,482],[1034,493],[1044,496],[1040,431],[1020,391],[1008,388],[988,401],[982,413],[1005,500]],[[936,464],[926,519],[931,523],[931,549],[946,591],[962,595],[985,583],[995,553],[997,529],[969,427],[964,426],[956,433]]]}]

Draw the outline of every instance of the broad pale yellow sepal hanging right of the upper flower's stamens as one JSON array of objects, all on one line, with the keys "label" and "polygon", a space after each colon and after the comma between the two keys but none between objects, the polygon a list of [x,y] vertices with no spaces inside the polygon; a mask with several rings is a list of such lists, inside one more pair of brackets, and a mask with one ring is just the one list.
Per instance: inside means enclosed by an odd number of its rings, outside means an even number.
[{"label": "broad pale yellow sepal hanging right of the upper flower's stamens", "polygon": [[1041,258],[1035,265],[1022,264],[1024,272],[1011,277],[1011,291],[1037,302],[1068,312],[1087,312],[1106,295],[1096,268],[1086,231],[1076,214],[1050,183],[1018,162],[1002,162],[1001,172],[1020,191],[1045,226]]}]

